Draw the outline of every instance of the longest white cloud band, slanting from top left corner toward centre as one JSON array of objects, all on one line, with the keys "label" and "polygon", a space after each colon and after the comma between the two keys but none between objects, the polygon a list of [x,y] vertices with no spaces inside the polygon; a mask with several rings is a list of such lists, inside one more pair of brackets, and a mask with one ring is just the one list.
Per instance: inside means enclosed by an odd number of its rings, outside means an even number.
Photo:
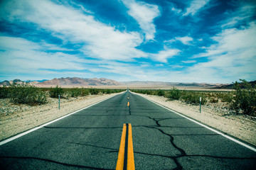
[{"label": "longest white cloud band, slanting from top left corner toward centre", "polygon": [[120,32],[71,6],[23,0],[9,1],[5,8],[9,21],[35,23],[64,42],[84,43],[81,50],[89,57],[119,61],[147,57],[136,48],[143,41],[139,33]]}]

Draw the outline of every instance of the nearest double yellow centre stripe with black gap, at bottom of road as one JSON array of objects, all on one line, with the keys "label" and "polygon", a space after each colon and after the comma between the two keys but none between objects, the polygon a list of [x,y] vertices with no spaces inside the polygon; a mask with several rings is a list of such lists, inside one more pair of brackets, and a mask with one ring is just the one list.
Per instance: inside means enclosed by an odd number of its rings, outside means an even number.
[{"label": "nearest double yellow centre stripe with black gap, at bottom of road", "polygon": [[132,125],[124,123],[119,147],[116,170],[133,170],[134,152],[132,147]]}]

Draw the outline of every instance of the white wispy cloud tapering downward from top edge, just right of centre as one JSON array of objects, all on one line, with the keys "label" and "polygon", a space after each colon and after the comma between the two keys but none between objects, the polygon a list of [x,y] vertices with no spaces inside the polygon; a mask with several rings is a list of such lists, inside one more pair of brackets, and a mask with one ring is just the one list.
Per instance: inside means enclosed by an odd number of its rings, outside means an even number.
[{"label": "white wispy cloud tapering downward from top edge, just right of centre", "polygon": [[139,27],[146,34],[146,40],[154,40],[154,34],[156,33],[154,18],[160,16],[158,6],[135,0],[122,1],[129,8],[129,15],[139,23]]}]

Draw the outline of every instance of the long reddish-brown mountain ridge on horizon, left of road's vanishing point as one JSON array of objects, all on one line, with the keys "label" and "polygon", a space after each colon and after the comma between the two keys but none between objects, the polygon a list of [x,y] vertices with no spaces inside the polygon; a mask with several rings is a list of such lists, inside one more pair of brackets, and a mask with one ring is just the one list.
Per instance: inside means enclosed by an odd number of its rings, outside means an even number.
[{"label": "long reddish-brown mountain ridge on horizon, left of road's vanishing point", "polygon": [[60,79],[52,79],[38,83],[38,85],[53,85],[53,86],[119,86],[123,85],[112,79],[105,78],[93,78],[93,79],[81,79],[78,77],[67,77]]}]

